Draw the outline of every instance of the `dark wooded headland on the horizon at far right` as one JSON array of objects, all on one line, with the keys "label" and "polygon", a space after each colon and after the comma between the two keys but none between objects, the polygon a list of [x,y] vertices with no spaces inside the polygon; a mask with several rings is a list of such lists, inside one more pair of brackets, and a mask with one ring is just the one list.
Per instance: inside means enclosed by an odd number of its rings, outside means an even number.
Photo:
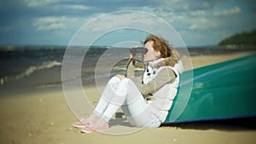
[{"label": "dark wooded headland on the horizon at far right", "polygon": [[218,46],[224,45],[256,45],[256,30],[252,32],[241,32],[231,37],[225,38],[223,41],[218,43]]}]

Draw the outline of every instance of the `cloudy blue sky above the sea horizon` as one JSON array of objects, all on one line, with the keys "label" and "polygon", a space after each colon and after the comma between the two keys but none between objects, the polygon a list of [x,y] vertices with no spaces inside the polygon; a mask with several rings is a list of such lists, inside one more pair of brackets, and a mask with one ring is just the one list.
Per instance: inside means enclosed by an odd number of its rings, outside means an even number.
[{"label": "cloudy blue sky above the sea horizon", "polygon": [[[215,45],[225,37],[256,29],[254,0],[0,0],[0,45],[67,45],[84,25],[123,10],[165,20],[188,47]],[[129,23],[127,17],[113,21]],[[105,24],[101,21],[93,28],[103,29]],[[96,44],[113,45],[111,39],[124,39],[127,33],[112,32]],[[145,32],[137,33],[138,41],[143,41],[140,35]]]}]

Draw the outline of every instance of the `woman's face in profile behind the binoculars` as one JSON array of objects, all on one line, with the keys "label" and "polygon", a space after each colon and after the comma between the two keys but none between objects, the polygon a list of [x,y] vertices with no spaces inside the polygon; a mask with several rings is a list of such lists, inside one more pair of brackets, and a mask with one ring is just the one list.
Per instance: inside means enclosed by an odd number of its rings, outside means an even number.
[{"label": "woman's face in profile behind the binoculars", "polygon": [[160,51],[155,51],[153,48],[154,41],[148,41],[144,47],[148,49],[148,52],[143,55],[143,61],[149,62],[160,58]]}]

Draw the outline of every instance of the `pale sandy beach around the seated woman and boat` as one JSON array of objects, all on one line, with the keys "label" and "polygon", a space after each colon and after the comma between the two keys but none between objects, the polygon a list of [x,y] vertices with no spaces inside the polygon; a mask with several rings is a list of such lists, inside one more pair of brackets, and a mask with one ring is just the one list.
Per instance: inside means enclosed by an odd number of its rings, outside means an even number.
[{"label": "pale sandy beach around the seated woman and boat", "polygon": [[[193,68],[236,59],[252,52],[226,55],[196,55]],[[99,95],[88,87],[91,100]],[[238,125],[195,124],[139,130],[129,135],[83,134],[73,128],[78,119],[67,105],[61,88],[2,91],[0,96],[0,143],[256,143],[256,130]]]}]

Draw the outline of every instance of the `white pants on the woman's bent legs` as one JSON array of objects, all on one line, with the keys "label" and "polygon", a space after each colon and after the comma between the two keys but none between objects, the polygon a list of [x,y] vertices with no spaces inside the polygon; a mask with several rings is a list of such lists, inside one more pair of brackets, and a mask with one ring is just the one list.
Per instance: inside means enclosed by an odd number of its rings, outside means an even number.
[{"label": "white pants on the woman's bent legs", "polygon": [[161,124],[131,79],[113,77],[108,81],[94,112],[109,120],[120,107],[133,126],[157,128]]}]

